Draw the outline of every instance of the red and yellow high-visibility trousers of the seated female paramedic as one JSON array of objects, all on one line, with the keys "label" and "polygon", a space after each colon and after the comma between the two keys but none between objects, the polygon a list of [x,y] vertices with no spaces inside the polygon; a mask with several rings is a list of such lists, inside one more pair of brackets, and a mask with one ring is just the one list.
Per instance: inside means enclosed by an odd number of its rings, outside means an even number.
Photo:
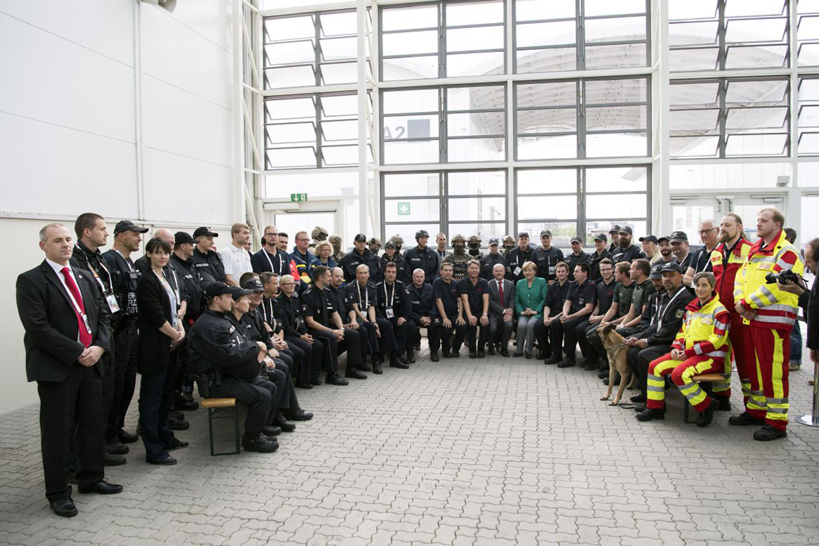
[{"label": "red and yellow high-visibility trousers of the seated female paramedic", "polygon": [[712,359],[707,356],[692,356],[689,359],[674,360],[671,353],[665,354],[649,364],[648,375],[648,401],[645,404],[649,409],[663,409],[665,406],[665,376],[671,374],[674,385],[680,389],[689,404],[699,412],[704,412],[711,404],[711,398],[703,390],[699,383],[692,381],[691,377],[699,376],[701,373],[722,372],[724,359]]}]

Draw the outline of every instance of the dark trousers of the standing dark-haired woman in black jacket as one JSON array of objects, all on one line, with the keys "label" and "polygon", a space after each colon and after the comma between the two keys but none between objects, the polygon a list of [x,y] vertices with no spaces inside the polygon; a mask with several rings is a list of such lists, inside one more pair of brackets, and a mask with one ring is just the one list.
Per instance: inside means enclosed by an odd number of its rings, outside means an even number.
[{"label": "dark trousers of the standing dark-haired woman in black jacket", "polygon": [[[174,358],[173,356],[171,357]],[[145,445],[145,460],[156,461],[168,456],[174,433],[168,428],[165,386],[173,375],[172,367],[161,372],[142,374],[139,381],[139,431]]]}]

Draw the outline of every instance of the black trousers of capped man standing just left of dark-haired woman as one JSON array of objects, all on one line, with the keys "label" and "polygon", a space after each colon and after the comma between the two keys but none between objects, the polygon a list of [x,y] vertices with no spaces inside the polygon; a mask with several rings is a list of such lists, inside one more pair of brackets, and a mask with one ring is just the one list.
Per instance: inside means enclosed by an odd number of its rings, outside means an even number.
[{"label": "black trousers of capped man standing just left of dark-haired woman", "polygon": [[114,334],[114,395],[106,423],[106,444],[119,440],[137,385],[137,321],[124,320]]}]

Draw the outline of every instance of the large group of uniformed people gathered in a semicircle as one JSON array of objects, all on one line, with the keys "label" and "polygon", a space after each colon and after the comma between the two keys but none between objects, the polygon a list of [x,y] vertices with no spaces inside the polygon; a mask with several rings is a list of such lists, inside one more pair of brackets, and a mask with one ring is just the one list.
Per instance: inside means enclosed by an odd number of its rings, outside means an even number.
[{"label": "large group of uniformed people gathered in a semicircle", "polygon": [[[816,286],[808,296],[801,278],[803,259],[817,271],[819,239],[802,256],[784,223],[780,211],[761,210],[752,244],[739,216],[706,220],[695,251],[685,232],[646,235],[637,246],[630,226],[615,225],[593,234],[590,253],[573,237],[566,255],[549,229],[536,247],[527,232],[491,238],[484,255],[481,237],[455,235],[450,251],[445,233],[432,247],[423,230],[403,252],[400,236],[382,245],[363,233],[345,252],[341,237],[318,227],[296,232],[288,249],[276,226],[251,253],[251,228],[236,223],[218,251],[210,228],[158,229],[141,256],[148,229],[129,220],[116,223],[105,252],[99,214],[81,214],[74,236],[48,224],[45,261],[17,282],[46,496],[70,517],[72,481],[80,493],[119,493],[104,467],[124,464],[139,437],[147,463],[177,463],[170,452],[188,445],[175,431],[190,426],[183,412],[198,407],[194,388],[247,407],[244,449],[273,452],[282,432],[313,417],[296,390],[347,386],[387,363],[410,368],[424,336],[433,363],[458,359],[465,346],[469,359],[539,359],[609,381],[599,332],[614,329],[640,386],[631,397],[640,422],[663,418],[665,390],[676,385],[708,425],[731,407],[733,361],[744,411],[731,424],[761,426],[757,440],[781,438],[798,306],[810,301],[806,315],[819,318]],[[816,328],[808,332],[816,361]],[[710,394],[694,379],[706,372],[724,377]],[[129,431],[137,374],[138,429]]]}]

